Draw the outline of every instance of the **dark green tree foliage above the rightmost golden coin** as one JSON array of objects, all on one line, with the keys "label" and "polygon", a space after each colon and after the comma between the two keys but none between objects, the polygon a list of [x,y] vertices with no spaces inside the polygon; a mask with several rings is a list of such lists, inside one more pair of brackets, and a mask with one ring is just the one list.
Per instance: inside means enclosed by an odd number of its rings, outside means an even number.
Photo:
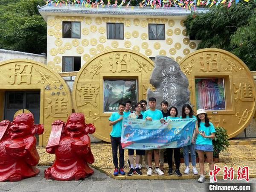
[{"label": "dark green tree foliage above the rightmost golden coin", "polygon": [[252,2],[212,6],[206,14],[191,13],[187,33],[201,40],[197,49],[215,47],[232,52],[256,70],[256,5]]}]

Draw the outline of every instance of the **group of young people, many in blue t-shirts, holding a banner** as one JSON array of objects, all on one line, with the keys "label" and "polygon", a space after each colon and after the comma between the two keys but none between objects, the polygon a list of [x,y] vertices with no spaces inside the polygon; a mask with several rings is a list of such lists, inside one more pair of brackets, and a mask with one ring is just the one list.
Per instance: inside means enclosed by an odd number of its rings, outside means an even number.
[{"label": "group of young people, many in blue t-shirts, holding a banner", "polygon": [[[204,109],[198,109],[196,116],[190,105],[185,104],[182,107],[182,114],[178,117],[178,110],[175,106],[168,109],[169,104],[167,101],[161,102],[162,110],[156,109],[156,99],[151,97],[148,99],[148,110],[146,110],[147,102],[141,100],[135,104],[135,112],[132,113],[131,101],[126,101],[125,103],[119,103],[118,112],[112,113],[109,118],[109,125],[112,126],[111,136],[111,147],[113,154],[113,164],[115,166],[113,175],[125,175],[124,171],[124,149],[121,146],[121,131],[122,131],[122,119],[123,117],[136,118],[136,119],[146,119],[148,121],[159,120],[161,123],[165,122],[167,119],[179,119],[179,118],[195,118],[196,126],[192,136],[192,142],[190,145],[183,147],[183,156],[186,165],[184,174],[189,174],[189,151],[191,154],[192,161],[192,172],[198,175],[196,169],[196,155],[195,150],[198,152],[199,157],[199,167],[200,167],[200,177],[198,182],[203,183],[205,181],[204,177],[204,153],[207,156],[209,162],[209,169],[213,170],[213,146],[212,139],[215,137],[215,128],[207,117],[207,113]],[[142,169],[143,159],[145,160],[146,168],[148,169],[147,175],[152,175],[152,154],[154,153],[154,172],[158,175],[164,175],[163,172],[163,154],[165,149],[153,149],[153,150],[138,150],[136,149],[135,166],[134,166],[134,149],[128,149],[129,156],[129,166],[130,171],[127,175],[131,176],[133,174],[142,175],[140,171]],[[118,167],[118,156],[117,151],[119,151],[119,167]],[[180,173],[180,148],[167,148],[167,161],[168,161],[168,174],[176,174],[177,176],[182,176]],[[175,160],[175,170],[172,169],[172,156],[174,154]],[[210,183],[214,183],[213,176],[210,176]]]}]

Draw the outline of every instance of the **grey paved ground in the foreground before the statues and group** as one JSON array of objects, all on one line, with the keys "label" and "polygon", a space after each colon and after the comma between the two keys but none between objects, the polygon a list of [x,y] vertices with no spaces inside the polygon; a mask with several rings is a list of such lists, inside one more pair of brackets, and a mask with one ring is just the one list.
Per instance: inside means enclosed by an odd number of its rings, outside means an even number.
[{"label": "grey paved ground in the foreground before the statues and group", "polygon": [[[36,176],[19,182],[0,182],[0,192],[204,192],[207,184],[198,183],[197,180],[116,180],[106,174],[95,170],[94,175],[79,181],[55,181],[44,178],[44,169]],[[231,183],[244,183],[233,180]],[[218,183],[229,183],[218,180]],[[209,183],[209,180],[206,181]],[[256,189],[256,179],[251,179]]]}]

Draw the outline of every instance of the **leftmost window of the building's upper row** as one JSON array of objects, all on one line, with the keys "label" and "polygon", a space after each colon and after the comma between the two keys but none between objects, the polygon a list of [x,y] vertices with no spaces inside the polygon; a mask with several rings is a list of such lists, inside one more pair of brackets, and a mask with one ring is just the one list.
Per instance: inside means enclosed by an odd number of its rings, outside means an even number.
[{"label": "leftmost window of the building's upper row", "polygon": [[63,21],[62,38],[80,38],[80,22]]}]

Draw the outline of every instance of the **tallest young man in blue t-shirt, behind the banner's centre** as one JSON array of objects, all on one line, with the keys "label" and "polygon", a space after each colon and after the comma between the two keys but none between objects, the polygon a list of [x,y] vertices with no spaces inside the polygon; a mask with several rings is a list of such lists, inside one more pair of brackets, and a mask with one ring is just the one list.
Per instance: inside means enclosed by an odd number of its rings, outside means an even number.
[{"label": "tallest young man in blue t-shirt, behind the banner's centre", "polygon": [[[160,110],[156,109],[156,99],[151,97],[148,99],[149,109],[144,112],[143,119],[149,121],[152,120],[161,120],[163,121],[163,114]],[[159,169],[159,149],[148,150],[148,172],[147,175],[152,175],[152,152],[154,151],[154,162],[155,170],[154,172],[158,175],[163,175],[161,169]]]}]

